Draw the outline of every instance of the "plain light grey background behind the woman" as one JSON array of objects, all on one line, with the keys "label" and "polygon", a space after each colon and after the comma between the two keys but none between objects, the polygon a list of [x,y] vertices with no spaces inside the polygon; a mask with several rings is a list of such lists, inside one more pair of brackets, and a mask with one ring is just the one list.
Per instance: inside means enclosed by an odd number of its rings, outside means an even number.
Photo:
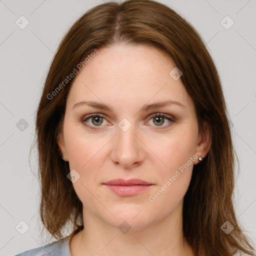
[{"label": "plain light grey background behind the woman", "polygon": [[[31,153],[31,167],[28,159],[35,134],[35,110],[60,39],[76,18],[102,2],[0,0],[0,255],[45,244],[39,232],[36,150]],[[240,161],[240,171],[236,168],[235,210],[255,243],[256,0],[160,2],[197,29],[216,63]],[[15,23],[21,15],[29,21],[24,29]],[[226,15],[234,21],[229,29],[220,23]],[[230,24],[230,20],[224,22]],[[23,131],[16,126],[24,122],[21,118],[28,124]],[[29,226],[24,234],[15,228],[21,220]]]}]

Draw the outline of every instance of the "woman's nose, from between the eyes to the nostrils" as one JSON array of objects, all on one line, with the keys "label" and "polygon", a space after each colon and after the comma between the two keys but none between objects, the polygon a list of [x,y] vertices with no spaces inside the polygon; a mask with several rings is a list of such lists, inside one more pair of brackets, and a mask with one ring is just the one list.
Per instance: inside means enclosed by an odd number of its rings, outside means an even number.
[{"label": "woman's nose, from between the eyes to the nostrils", "polygon": [[133,163],[141,161],[143,143],[136,136],[136,125],[129,124],[127,120],[120,121],[116,133],[111,153],[112,160],[123,166],[131,166]]}]

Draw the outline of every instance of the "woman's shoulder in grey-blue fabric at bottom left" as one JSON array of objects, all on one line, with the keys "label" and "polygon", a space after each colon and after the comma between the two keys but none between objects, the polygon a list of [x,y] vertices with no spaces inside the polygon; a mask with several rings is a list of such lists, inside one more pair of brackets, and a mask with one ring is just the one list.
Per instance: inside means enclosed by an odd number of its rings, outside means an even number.
[{"label": "woman's shoulder in grey-blue fabric at bottom left", "polygon": [[51,242],[41,247],[23,251],[15,256],[71,256],[69,249],[69,236],[58,241]]}]

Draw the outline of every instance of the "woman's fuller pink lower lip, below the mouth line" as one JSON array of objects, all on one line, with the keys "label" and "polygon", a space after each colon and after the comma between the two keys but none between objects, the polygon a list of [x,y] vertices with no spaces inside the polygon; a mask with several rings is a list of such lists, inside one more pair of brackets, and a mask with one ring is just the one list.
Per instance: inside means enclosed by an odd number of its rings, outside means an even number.
[{"label": "woman's fuller pink lower lip, below the mouth line", "polygon": [[133,196],[147,190],[152,185],[107,185],[112,192],[121,196]]}]

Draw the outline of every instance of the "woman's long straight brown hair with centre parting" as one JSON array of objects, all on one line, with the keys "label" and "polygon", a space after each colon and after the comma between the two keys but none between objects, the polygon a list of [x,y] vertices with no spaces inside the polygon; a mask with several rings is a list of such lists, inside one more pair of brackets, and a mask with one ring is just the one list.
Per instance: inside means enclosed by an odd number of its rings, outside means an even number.
[{"label": "woman's long straight brown hair with centre parting", "polygon": [[[56,142],[62,128],[66,98],[72,79],[66,76],[88,54],[106,45],[146,44],[172,58],[183,72],[181,80],[192,98],[199,131],[208,121],[212,142],[204,160],[193,166],[183,201],[183,235],[195,255],[229,256],[253,247],[235,216],[234,152],[216,67],[196,30],[171,8],[153,0],[106,2],[84,13],[67,31],[52,59],[36,114],[40,217],[48,232],[63,238],[63,228],[72,223],[72,233],[83,228],[82,203],[67,178],[68,162],[59,156]],[[60,88],[60,86],[58,87]],[[54,93],[54,98],[52,98]],[[49,95],[51,95],[49,97]],[[225,234],[221,225],[234,229]]]}]

